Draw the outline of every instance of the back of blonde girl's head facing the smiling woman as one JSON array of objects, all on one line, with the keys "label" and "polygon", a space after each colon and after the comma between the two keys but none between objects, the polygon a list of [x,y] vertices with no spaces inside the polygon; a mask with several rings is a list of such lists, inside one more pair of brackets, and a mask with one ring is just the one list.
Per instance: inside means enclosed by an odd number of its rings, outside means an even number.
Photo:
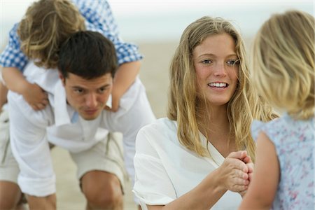
[{"label": "back of blonde girl's head facing the smiling woman", "polygon": [[315,19],[298,10],[272,15],[253,45],[253,80],[276,108],[297,119],[314,116]]}]

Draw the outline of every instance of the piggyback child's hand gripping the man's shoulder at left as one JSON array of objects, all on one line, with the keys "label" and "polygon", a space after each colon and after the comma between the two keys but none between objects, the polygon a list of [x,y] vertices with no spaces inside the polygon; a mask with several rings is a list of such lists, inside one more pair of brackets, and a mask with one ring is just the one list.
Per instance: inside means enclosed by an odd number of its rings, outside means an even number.
[{"label": "piggyback child's hand gripping the man's shoulder at left", "polygon": [[22,95],[34,110],[45,109],[48,104],[48,94],[37,84],[28,83]]}]

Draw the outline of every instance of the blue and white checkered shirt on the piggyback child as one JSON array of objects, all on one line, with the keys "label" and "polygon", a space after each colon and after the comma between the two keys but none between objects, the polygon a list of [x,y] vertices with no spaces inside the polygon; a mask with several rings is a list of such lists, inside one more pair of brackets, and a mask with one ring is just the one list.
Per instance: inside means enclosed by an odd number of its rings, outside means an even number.
[{"label": "blue and white checkered shirt on the piggyback child", "polygon": [[[98,31],[109,38],[116,48],[118,64],[142,59],[137,45],[125,43],[120,38],[118,26],[111,7],[106,0],[72,0],[85,18],[85,27],[90,31]],[[28,62],[27,56],[20,50],[20,38],[17,34],[18,23],[9,33],[9,41],[0,55],[0,65],[3,67],[17,67],[21,71]]]}]

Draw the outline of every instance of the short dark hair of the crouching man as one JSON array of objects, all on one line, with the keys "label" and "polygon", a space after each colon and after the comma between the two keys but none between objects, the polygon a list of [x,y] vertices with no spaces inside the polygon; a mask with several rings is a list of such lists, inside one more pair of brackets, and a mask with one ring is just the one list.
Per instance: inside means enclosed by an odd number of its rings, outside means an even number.
[{"label": "short dark hair of the crouching man", "polygon": [[92,79],[106,73],[114,76],[117,63],[116,50],[109,39],[99,32],[78,31],[62,44],[58,69],[64,78],[73,73]]}]

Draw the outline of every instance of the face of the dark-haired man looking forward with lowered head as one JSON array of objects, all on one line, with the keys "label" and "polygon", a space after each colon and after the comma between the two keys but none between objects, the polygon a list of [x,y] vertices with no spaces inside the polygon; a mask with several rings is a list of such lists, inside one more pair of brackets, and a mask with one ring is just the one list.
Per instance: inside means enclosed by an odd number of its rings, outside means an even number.
[{"label": "face of the dark-haired man looking forward with lowered head", "polygon": [[63,78],[61,74],[59,76],[66,90],[68,104],[85,120],[97,118],[111,94],[111,73],[89,80],[73,73],[69,73],[68,78]]}]

